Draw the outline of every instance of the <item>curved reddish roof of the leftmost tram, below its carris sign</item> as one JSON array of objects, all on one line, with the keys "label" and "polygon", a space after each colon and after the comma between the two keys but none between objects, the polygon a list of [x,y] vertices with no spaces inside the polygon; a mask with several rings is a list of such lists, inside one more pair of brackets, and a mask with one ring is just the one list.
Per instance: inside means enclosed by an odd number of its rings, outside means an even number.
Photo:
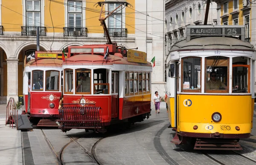
[{"label": "curved reddish roof of the leftmost tram, below its carris sign", "polygon": [[26,63],[26,67],[28,66],[44,66],[44,67],[61,67],[63,61],[61,59],[54,59],[54,58],[45,58],[45,59],[35,59]]}]

